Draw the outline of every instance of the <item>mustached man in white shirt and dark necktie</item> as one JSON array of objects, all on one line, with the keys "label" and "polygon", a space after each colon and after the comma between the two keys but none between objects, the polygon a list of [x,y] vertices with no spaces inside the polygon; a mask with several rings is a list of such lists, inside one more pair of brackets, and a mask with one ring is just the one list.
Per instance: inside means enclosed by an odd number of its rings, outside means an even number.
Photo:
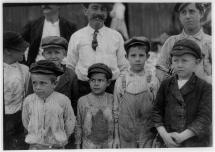
[{"label": "mustached man in white shirt and dark necktie", "polygon": [[87,70],[92,64],[101,62],[112,70],[112,83],[108,88],[110,93],[113,92],[117,77],[128,68],[122,36],[104,25],[109,10],[108,3],[84,4],[88,25],[70,38],[66,61],[67,66],[77,74],[80,95],[90,92]]}]

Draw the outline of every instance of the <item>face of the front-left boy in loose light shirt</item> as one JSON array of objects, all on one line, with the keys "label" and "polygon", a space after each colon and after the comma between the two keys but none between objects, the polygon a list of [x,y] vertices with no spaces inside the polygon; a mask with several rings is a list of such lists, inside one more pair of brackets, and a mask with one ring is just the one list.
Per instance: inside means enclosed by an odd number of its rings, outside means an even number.
[{"label": "face of the front-left boy in loose light shirt", "polygon": [[34,92],[43,99],[46,99],[56,86],[56,82],[51,81],[51,77],[43,74],[31,74],[31,80]]}]

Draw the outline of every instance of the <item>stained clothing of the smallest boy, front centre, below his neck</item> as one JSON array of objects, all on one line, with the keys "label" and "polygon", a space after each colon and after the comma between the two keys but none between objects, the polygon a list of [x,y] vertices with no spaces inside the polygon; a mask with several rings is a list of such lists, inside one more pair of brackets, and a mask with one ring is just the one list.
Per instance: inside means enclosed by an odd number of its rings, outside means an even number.
[{"label": "stained clothing of the smallest boy, front centre, below his neck", "polygon": [[[90,93],[81,97],[77,108],[76,144],[87,141],[94,144],[112,143],[114,131],[112,110],[112,94],[95,96]],[[108,145],[107,147],[111,148],[112,144]]]}]

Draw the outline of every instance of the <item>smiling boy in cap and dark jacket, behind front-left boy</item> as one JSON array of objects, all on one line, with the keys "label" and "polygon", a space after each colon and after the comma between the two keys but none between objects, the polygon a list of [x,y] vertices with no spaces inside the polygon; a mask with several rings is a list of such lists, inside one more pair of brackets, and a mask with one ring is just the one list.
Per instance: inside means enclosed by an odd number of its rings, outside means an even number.
[{"label": "smiling boy in cap and dark jacket, behind front-left boy", "polygon": [[[48,36],[42,39],[41,47],[43,49],[42,55],[46,60],[54,62],[64,73],[58,77],[58,83],[55,91],[66,95],[70,100],[73,110],[76,114],[77,100],[78,100],[78,81],[77,76],[73,70],[67,68],[63,64],[63,60],[66,57],[67,40],[63,37]],[[29,87],[29,94],[33,93],[33,88]]]}]

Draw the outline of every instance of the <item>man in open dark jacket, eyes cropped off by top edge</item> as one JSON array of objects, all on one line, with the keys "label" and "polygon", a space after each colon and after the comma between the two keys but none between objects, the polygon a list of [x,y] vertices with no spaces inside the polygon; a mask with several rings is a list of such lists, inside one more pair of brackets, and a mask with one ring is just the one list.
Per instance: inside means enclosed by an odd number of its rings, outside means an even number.
[{"label": "man in open dark jacket, eyes cropped off by top edge", "polygon": [[25,25],[22,36],[30,43],[27,62],[31,63],[42,59],[41,39],[47,36],[61,36],[69,40],[76,31],[76,26],[59,16],[60,6],[57,4],[44,4],[41,6],[43,15],[39,19]]}]

